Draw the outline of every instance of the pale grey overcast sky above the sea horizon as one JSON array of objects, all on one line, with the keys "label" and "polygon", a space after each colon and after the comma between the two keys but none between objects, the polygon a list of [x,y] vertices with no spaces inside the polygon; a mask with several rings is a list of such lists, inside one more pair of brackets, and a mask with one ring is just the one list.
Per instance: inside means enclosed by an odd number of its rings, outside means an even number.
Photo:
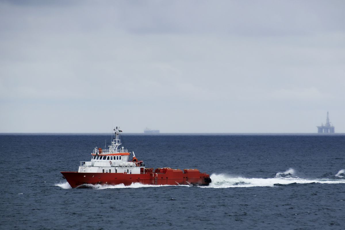
[{"label": "pale grey overcast sky above the sea horizon", "polygon": [[0,132],[345,132],[345,1],[0,1]]}]

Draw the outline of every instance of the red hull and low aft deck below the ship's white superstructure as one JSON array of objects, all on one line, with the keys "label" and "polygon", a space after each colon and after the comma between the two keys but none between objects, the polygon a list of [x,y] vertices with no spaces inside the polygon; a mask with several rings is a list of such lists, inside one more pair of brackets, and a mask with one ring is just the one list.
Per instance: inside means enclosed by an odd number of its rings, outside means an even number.
[{"label": "red hull and low aft deck below the ship's white superstructure", "polygon": [[196,169],[175,170],[170,168],[156,169],[155,172],[142,174],[125,173],[85,173],[85,172],[61,172],[72,188],[82,184],[125,184],[132,183],[152,185],[180,185],[197,184],[207,186],[211,179],[209,174],[200,173]]}]

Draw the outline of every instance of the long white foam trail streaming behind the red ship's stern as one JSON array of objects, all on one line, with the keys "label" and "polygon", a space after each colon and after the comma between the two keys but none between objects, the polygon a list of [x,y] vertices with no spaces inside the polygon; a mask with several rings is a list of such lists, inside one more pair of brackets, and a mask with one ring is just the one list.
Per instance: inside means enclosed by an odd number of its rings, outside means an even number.
[{"label": "long white foam trail streaming behind the red ship's stern", "polygon": [[345,179],[302,179],[302,178],[245,178],[231,177],[227,174],[212,174],[210,176],[212,182],[209,186],[201,188],[237,188],[237,187],[273,187],[275,184],[306,184],[306,183],[322,183],[337,184],[345,183]]}]

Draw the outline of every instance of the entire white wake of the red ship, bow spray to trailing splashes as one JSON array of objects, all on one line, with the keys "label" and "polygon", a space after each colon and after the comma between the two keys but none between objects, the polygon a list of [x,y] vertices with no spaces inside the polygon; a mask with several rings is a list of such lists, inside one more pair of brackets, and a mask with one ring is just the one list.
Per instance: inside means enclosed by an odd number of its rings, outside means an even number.
[{"label": "entire white wake of the red ship, bow spray to trailing splashes", "polygon": [[[309,183],[321,183],[321,184],[341,184],[345,183],[345,179],[304,179],[294,176],[295,170],[288,169],[285,172],[277,172],[274,178],[245,178],[245,177],[231,177],[228,174],[211,174],[210,178],[212,182],[209,186],[189,186],[189,185],[150,185],[141,183],[132,183],[129,186],[124,184],[117,185],[101,185],[101,184],[83,184],[82,188],[90,189],[124,189],[124,188],[149,188],[149,187],[166,187],[166,186],[179,186],[179,187],[199,187],[199,188],[246,188],[246,187],[277,187],[279,185],[288,184],[309,184]],[[342,176],[343,175],[343,176]],[[343,178],[345,176],[345,170],[340,170],[335,177]],[[71,186],[66,181],[64,183],[57,183],[62,189],[71,189]]]}]

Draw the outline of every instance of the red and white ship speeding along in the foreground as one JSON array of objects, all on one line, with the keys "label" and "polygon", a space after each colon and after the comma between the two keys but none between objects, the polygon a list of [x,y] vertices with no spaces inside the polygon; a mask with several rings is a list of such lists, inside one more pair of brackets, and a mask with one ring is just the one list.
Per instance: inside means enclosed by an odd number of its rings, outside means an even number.
[{"label": "red and white ship speeding along in the foreground", "polygon": [[[129,152],[121,143],[120,127],[114,128],[109,149],[95,148],[90,161],[80,161],[77,172],[61,172],[72,188],[87,188],[89,184],[129,186],[132,183],[150,185],[208,186],[209,174],[198,169],[145,168],[134,151]],[[130,156],[132,154],[132,160]]]}]

